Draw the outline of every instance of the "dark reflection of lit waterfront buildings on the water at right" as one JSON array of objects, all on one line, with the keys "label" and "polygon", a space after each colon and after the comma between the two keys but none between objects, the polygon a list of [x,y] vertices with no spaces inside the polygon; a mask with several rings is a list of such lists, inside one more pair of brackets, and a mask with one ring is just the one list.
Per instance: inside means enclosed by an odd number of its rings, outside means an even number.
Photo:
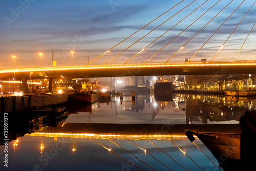
[{"label": "dark reflection of lit waterfront buildings on the water at right", "polygon": [[186,123],[239,121],[245,111],[255,110],[255,102],[230,96],[186,95]]}]

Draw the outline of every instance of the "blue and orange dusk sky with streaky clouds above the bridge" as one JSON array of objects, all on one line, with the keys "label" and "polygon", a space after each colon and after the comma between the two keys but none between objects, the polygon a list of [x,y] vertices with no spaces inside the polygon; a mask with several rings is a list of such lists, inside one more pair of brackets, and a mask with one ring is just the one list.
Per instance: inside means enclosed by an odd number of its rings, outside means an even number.
[{"label": "blue and orange dusk sky with streaky clouds above the bridge", "polygon": [[[166,61],[174,55],[230,1],[220,1],[150,62]],[[16,68],[40,67],[39,53],[43,53],[42,66],[51,66],[52,49],[55,52],[54,60],[57,61],[57,66],[71,65],[71,50],[75,51],[74,65],[86,65],[88,55],[90,61],[93,60],[179,2],[181,0],[0,1],[0,67],[2,69],[13,68],[13,55],[17,56]],[[92,64],[108,61],[191,2],[193,1],[183,1]],[[195,1],[110,63],[125,62],[204,2],[206,0]],[[206,2],[199,10],[184,19],[130,62],[144,62],[150,58],[217,2],[213,0]],[[171,61],[184,61],[185,58],[193,56],[242,2],[242,0],[233,1]],[[193,60],[199,61],[201,58],[210,60],[214,57],[253,3],[254,1],[246,0]],[[256,5],[245,16],[215,60],[234,59],[255,22],[255,13]],[[256,28],[252,30],[237,60],[255,60],[255,33]]]}]

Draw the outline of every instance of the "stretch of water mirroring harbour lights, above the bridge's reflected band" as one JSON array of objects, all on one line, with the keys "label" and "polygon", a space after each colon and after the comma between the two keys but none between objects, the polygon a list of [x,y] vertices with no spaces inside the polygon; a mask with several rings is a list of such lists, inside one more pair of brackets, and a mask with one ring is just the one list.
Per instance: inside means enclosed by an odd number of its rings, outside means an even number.
[{"label": "stretch of water mirroring harbour lights, above the bridge's reflected band", "polygon": [[[239,123],[245,111],[255,109],[256,102],[256,99],[244,97],[238,99],[212,95],[173,94],[162,97],[162,101],[158,101],[154,94],[137,93],[135,96],[135,101],[132,101],[131,95],[124,95],[122,100],[112,97],[109,101],[79,106],[80,109],[71,106],[71,109],[73,113],[87,114],[87,121],[83,119],[81,122],[89,123],[162,124],[166,118],[175,117],[175,123],[178,124],[216,124]],[[71,123],[73,119],[77,120],[74,116],[69,119],[67,122]],[[168,121],[172,124],[174,120]]]}]

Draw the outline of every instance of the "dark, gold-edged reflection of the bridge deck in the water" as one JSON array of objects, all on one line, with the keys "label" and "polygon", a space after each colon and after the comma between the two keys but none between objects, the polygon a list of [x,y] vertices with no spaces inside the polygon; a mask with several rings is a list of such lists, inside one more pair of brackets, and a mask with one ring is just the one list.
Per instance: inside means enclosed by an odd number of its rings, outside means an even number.
[{"label": "dark, gold-edged reflection of the bridge deck in the water", "polygon": [[[62,123],[58,127],[42,127],[29,136],[97,138],[97,139],[186,139],[184,130],[202,132],[240,132],[239,124],[105,124]],[[232,131],[230,131],[232,130]]]}]

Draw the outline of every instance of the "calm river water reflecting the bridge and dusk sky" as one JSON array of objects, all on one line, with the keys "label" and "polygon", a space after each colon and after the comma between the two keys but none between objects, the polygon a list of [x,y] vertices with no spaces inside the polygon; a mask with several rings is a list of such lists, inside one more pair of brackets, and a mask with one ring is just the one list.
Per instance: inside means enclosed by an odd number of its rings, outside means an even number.
[{"label": "calm river water reflecting the bridge and dusk sky", "polygon": [[143,127],[133,129],[132,125],[123,131],[124,126],[111,125],[104,126],[102,134],[99,129],[93,134],[86,125],[238,124],[246,110],[255,109],[255,100],[247,98],[174,94],[155,99],[153,94],[137,94],[135,102],[131,99],[124,96],[121,102],[112,97],[87,108],[70,108],[72,114],[57,127],[41,127],[17,138],[15,146],[9,142],[8,167],[1,145],[0,170],[219,170],[217,160],[199,139],[195,144],[201,149],[182,136],[131,136],[142,135]]}]

